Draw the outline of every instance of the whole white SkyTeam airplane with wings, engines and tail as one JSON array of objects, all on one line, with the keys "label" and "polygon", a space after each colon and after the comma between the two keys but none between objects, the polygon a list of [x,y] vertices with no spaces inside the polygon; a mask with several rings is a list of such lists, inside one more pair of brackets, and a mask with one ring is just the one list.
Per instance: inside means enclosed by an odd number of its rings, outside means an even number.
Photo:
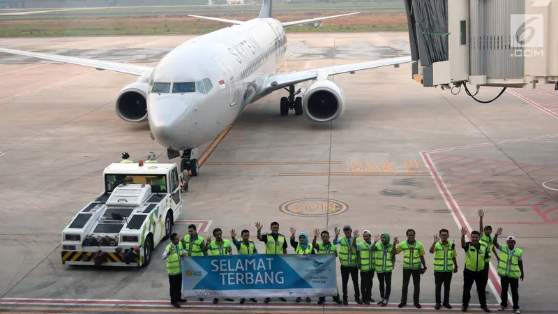
[{"label": "whole white SkyTeam airplane with wings, engines and tail", "polygon": [[[412,62],[411,57],[399,57],[278,73],[286,54],[285,27],[358,13],[280,22],[273,18],[271,1],[264,0],[259,16],[246,22],[190,15],[232,26],[187,40],[154,68],[7,48],[0,52],[139,76],[116,97],[116,114],[130,122],[149,120],[152,136],[167,148],[168,157],[183,151],[181,169],[196,176],[199,164],[190,158],[192,150],[216,138],[250,103],[286,89],[289,96],[280,100],[281,115],[294,110],[312,121],[331,121],[344,112],[345,97],[328,80],[330,75]],[[315,82],[308,89],[295,91],[296,84],[310,80]]]}]

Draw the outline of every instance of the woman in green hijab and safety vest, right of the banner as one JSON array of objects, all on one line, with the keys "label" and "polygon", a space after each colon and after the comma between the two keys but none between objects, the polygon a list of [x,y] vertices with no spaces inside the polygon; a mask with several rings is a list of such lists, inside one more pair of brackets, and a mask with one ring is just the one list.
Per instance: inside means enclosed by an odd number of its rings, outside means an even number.
[{"label": "woman in green hijab and safety vest, right of the banner", "polygon": [[[380,240],[380,243],[377,241]],[[393,247],[398,244],[397,237],[393,238],[393,244],[389,243],[389,233],[384,232],[382,235],[376,235],[372,244],[372,251],[375,252],[374,270],[379,281],[379,295],[382,299],[377,304],[386,306],[391,294],[391,271],[393,271],[394,255]]]}]

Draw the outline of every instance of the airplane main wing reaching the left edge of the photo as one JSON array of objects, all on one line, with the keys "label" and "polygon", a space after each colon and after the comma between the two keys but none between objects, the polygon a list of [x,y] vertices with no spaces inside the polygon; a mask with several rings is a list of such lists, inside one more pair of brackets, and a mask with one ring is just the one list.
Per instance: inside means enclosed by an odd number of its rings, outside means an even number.
[{"label": "airplane main wing reaching the left edge of the photo", "polygon": [[112,61],[102,61],[85,59],[78,57],[67,57],[61,56],[59,54],[43,54],[40,52],[27,52],[23,50],[15,50],[8,48],[1,48],[0,52],[5,52],[7,54],[18,54],[20,56],[33,57],[38,59],[45,59],[50,61],[59,61],[63,63],[77,64],[78,66],[89,66],[90,68],[96,68],[97,70],[110,70],[119,73],[126,73],[131,75],[149,75],[153,71],[151,66],[139,66],[137,64],[120,63]]}]

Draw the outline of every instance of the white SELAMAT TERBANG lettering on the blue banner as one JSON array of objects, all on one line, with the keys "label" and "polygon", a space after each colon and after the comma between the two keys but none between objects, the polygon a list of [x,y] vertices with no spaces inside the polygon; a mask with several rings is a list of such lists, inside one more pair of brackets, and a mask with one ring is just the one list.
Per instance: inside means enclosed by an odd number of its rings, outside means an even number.
[{"label": "white SELAMAT TERBANG lettering on the blue banner", "polygon": [[[282,285],[283,272],[273,271],[272,260],[273,258],[261,258],[257,262],[255,259],[236,260],[236,265],[232,265],[234,263],[231,263],[231,260],[212,260],[211,271],[222,273],[219,275],[223,285]],[[248,271],[257,272],[254,274]]]}]

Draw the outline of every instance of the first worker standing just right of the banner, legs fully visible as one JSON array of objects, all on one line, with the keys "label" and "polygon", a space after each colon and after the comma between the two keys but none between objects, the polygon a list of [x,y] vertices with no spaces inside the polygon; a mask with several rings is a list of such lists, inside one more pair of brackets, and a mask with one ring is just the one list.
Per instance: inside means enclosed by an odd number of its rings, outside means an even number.
[{"label": "first worker standing just right of the banner, legs fully visible", "polygon": [[339,229],[335,227],[335,238],[333,239],[333,244],[339,246],[339,262],[341,264],[341,280],[342,280],[342,290],[343,290],[343,304],[349,304],[347,300],[347,283],[349,283],[349,275],[353,281],[354,288],[354,301],[358,304],[362,304],[361,292],[359,290],[359,267],[358,267],[358,254],[356,253],[356,248],[353,246],[353,241],[357,244],[360,243],[358,237],[352,235],[352,229],[350,225],[345,225],[343,227],[343,233],[345,237],[339,238]]}]

